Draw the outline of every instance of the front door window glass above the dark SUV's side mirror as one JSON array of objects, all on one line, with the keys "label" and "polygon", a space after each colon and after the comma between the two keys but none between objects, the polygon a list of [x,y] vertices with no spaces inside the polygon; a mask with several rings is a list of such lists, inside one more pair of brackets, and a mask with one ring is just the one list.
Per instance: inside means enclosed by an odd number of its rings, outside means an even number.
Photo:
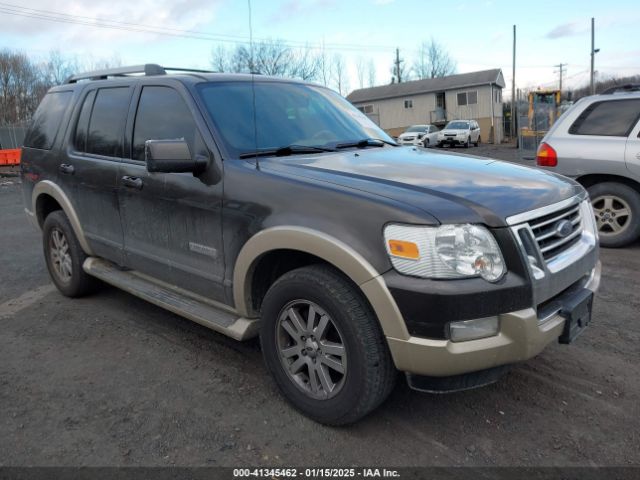
[{"label": "front door window glass above the dark SUV's side mirror", "polygon": [[180,94],[169,87],[144,87],[133,129],[134,160],[144,160],[147,140],[184,139],[193,155],[196,123]]}]

